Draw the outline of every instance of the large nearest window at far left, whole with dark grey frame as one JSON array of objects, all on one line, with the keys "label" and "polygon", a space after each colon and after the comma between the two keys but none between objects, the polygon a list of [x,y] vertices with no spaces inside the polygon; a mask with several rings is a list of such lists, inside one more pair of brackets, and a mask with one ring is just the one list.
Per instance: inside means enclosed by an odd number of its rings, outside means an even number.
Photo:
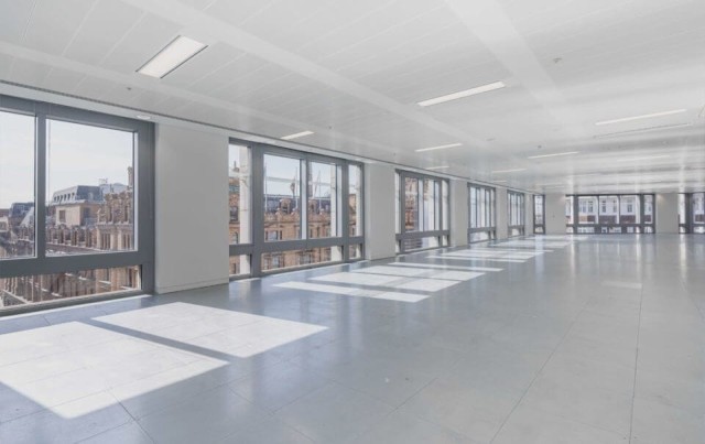
[{"label": "large nearest window at far left, whole with dark grey frame", "polygon": [[0,308],[151,291],[153,126],[7,96],[0,108]]}]

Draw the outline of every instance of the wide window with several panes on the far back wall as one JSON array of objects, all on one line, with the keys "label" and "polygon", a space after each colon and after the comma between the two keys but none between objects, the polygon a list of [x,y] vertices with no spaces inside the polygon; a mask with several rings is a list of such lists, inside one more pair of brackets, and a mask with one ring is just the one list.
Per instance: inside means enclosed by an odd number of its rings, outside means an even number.
[{"label": "wide window with several panes on the far back wall", "polygon": [[652,194],[566,196],[566,232],[654,232],[654,209]]}]

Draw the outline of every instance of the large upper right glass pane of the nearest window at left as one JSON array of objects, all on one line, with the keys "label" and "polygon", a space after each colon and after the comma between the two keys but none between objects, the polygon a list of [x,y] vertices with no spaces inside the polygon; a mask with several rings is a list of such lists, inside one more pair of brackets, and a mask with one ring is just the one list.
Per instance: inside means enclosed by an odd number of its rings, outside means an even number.
[{"label": "large upper right glass pane of the nearest window at left", "polygon": [[46,255],[134,250],[134,134],[47,121]]}]

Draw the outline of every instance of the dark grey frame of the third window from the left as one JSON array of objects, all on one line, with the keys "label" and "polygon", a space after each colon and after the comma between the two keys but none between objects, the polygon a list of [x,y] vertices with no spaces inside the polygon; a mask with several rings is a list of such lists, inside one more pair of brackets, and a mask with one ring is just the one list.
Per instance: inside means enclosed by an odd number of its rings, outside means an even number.
[{"label": "dark grey frame of the third window from the left", "polygon": [[[406,252],[416,252],[416,251],[424,251],[424,250],[433,250],[436,248],[443,248],[446,247],[446,240],[449,239],[451,236],[451,220],[445,220],[444,219],[444,213],[446,213],[448,215],[448,219],[452,217],[451,216],[451,212],[444,212],[443,206],[444,204],[444,199],[443,199],[443,182],[445,182],[445,186],[448,189],[448,202],[451,202],[451,182],[447,178],[444,177],[440,177],[440,176],[434,176],[434,175],[430,175],[430,174],[422,174],[422,173],[415,173],[412,171],[406,171],[406,170],[395,170],[395,174],[399,177],[399,195],[397,196],[397,205],[398,205],[398,210],[399,210],[399,226],[397,227],[397,230],[399,231],[397,234],[397,252],[399,255],[403,255]],[[423,181],[426,178],[433,180],[433,181],[440,181],[441,186],[440,186],[440,198],[438,198],[438,213],[440,213],[440,220],[438,220],[438,227],[447,227],[445,229],[437,229],[437,230],[426,230],[426,231],[406,231],[406,227],[404,224],[404,219],[405,219],[405,207],[404,207],[404,202],[405,202],[405,189],[404,189],[404,184],[405,184],[405,178],[406,177],[412,177],[412,178],[416,178],[419,181]],[[421,208],[422,203],[419,202],[419,208]],[[449,208],[448,208],[449,209]],[[438,247],[430,247],[430,248],[419,248],[419,249],[412,249],[412,250],[406,250],[406,248],[404,247],[404,241],[405,240],[416,240],[416,239],[424,239],[424,238],[432,238],[435,237],[438,240]]]}]

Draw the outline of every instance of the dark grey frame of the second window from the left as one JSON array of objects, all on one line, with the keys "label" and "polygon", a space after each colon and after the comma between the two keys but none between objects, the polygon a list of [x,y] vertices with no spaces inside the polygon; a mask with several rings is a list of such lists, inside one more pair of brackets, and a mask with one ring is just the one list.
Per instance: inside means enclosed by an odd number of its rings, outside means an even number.
[{"label": "dark grey frame of the second window from the left", "polygon": [[[250,149],[250,212],[251,212],[251,229],[250,234],[252,241],[248,243],[230,243],[230,257],[236,256],[249,256],[250,257],[250,273],[231,275],[230,280],[259,278],[268,274],[275,274],[281,272],[289,272],[292,270],[305,270],[317,267],[326,267],[332,264],[357,262],[364,259],[365,248],[365,203],[362,202],[359,219],[362,224],[360,236],[350,236],[349,234],[349,216],[348,208],[349,202],[349,165],[355,165],[360,169],[360,194],[365,196],[365,164],[361,162],[355,162],[346,159],[334,158],[323,154],[310,153],[305,151],[292,150],[288,148],[274,147],[261,142],[251,142],[242,139],[230,138],[229,144],[237,144],[248,147]],[[279,155],[290,159],[296,159],[302,161],[303,167],[300,169],[299,178],[303,185],[301,188],[301,226],[300,226],[300,239],[291,240],[264,240],[264,210],[262,208],[262,202],[264,201],[264,155]],[[311,162],[335,164],[338,169],[337,174],[337,187],[339,203],[339,219],[337,220],[337,236],[326,238],[308,238],[308,218],[307,207],[308,201],[308,186],[306,183],[307,174],[306,170],[310,167]],[[350,258],[351,246],[361,246],[360,257]],[[329,261],[313,264],[302,264],[300,267],[288,267],[278,270],[262,270],[262,255],[273,252],[284,252],[291,250],[308,250],[312,248],[325,248],[325,247],[341,247],[341,259],[338,261]]]}]

